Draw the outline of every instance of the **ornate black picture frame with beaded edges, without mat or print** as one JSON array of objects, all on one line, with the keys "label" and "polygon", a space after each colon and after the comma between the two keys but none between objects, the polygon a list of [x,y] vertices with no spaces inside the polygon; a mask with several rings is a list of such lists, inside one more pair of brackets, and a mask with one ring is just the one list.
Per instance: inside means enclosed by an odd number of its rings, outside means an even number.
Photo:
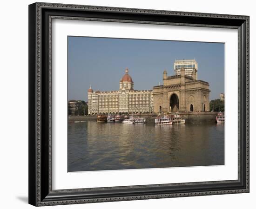
[{"label": "ornate black picture frame with beaded edges, without mat or print", "polygon": [[[238,179],[229,181],[52,189],[51,21],[53,19],[238,29]],[[249,192],[249,16],[29,5],[29,203],[34,206]]]}]

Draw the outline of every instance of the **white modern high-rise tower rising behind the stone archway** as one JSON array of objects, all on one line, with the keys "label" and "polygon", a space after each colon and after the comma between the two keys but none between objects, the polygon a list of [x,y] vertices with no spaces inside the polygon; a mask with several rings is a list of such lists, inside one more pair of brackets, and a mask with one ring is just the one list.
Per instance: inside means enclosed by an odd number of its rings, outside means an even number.
[{"label": "white modern high-rise tower rising behind the stone archway", "polygon": [[181,69],[185,69],[185,75],[192,76],[193,70],[195,70],[195,79],[197,80],[198,65],[195,59],[181,59],[175,60],[174,71],[175,75],[181,74]]}]

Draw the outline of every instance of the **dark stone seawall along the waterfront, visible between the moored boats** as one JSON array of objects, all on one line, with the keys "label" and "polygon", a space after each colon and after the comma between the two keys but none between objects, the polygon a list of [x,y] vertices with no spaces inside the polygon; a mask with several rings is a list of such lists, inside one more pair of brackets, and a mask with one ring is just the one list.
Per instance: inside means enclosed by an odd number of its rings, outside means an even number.
[{"label": "dark stone seawall along the waterfront, visible between the moored boats", "polygon": [[[182,118],[186,119],[187,124],[212,124],[216,123],[216,115],[217,112],[180,112],[179,113]],[[155,118],[159,117],[157,114],[148,114],[148,115],[136,115],[136,117],[146,118],[147,123],[154,123]],[[74,123],[76,122],[84,122],[88,120],[96,121],[97,116],[89,115],[89,116],[68,116],[68,122]]]}]

